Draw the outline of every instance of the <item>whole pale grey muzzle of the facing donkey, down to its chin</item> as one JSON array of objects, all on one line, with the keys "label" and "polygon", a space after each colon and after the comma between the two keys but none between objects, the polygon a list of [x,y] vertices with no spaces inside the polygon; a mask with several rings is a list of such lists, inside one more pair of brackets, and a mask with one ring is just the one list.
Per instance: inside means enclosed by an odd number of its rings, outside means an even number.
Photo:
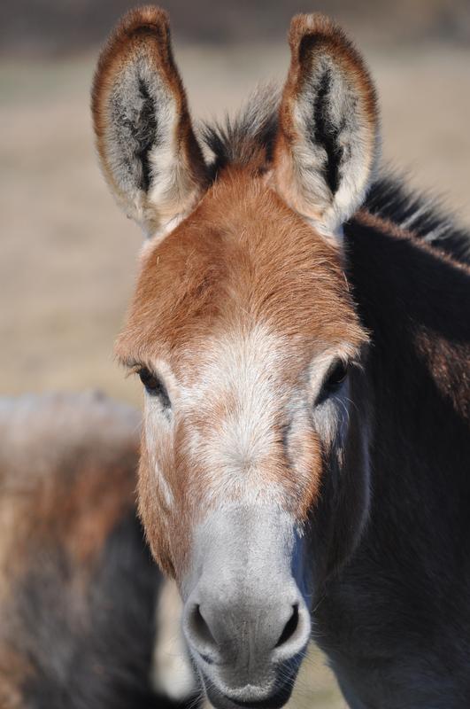
[{"label": "whole pale grey muzzle of the facing donkey, down to its chin", "polygon": [[214,511],[196,530],[183,632],[217,709],[288,701],[311,634],[303,546],[288,513],[258,505]]}]

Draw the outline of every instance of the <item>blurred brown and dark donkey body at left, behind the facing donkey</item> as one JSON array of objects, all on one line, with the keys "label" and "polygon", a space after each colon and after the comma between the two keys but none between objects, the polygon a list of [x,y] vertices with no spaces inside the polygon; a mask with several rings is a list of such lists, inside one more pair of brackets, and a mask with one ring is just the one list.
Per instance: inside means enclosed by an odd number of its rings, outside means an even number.
[{"label": "blurred brown and dark donkey body at left, behind the facing donkey", "polygon": [[100,395],[0,400],[2,709],[182,707],[150,682],[161,576],[135,515],[139,428]]}]

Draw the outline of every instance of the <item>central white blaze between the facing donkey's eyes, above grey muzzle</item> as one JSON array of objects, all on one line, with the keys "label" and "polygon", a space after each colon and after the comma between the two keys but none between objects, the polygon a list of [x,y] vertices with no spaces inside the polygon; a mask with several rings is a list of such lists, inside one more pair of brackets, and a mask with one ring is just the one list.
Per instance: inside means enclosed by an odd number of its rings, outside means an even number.
[{"label": "central white blaze between the facing donkey's eyes, above grey muzzle", "polygon": [[266,464],[275,452],[276,417],[287,394],[281,377],[287,351],[280,336],[257,325],[210,340],[199,355],[197,385],[183,393],[181,407],[210,410],[214,401],[221,406],[204,434],[189,433],[190,456],[204,462],[211,498],[281,502],[281,487],[266,486]]}]

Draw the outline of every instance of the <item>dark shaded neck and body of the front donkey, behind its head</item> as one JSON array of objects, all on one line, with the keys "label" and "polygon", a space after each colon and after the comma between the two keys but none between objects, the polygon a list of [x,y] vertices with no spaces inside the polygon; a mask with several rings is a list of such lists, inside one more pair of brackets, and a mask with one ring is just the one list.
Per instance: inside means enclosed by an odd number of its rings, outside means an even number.
[{"label": "dark shaded neck and body of the front donkey, behind its head", "polygon": [[458,706],[448,700],[468,690],[470,657],[469,273],[385,222],[351,222],[346,240],[372,339],[372,503],[320,604],[320,644],[353,707]]}]

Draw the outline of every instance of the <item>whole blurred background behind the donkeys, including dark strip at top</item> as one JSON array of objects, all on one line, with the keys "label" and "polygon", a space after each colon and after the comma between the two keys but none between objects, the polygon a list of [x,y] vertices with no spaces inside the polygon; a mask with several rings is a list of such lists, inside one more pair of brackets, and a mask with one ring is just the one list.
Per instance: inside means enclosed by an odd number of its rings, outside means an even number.
[{"label": "whole blurred background behind the donkeys, including dark strip at top", "polygon": [[[141,235],[97,168],[89,86],[126,0],[0,4],[0,391],[99,388],[140,403],[112,359]],[[356,38],[381,99],[383,156],[470,224],[469,0],[167,0],[196,118],[282,78],[296,12]],[[312,670],[313,666],[313,670]],[[315,697],[314,701],[312,699]],[[293,705],[343,706],[315,653]]]}]

